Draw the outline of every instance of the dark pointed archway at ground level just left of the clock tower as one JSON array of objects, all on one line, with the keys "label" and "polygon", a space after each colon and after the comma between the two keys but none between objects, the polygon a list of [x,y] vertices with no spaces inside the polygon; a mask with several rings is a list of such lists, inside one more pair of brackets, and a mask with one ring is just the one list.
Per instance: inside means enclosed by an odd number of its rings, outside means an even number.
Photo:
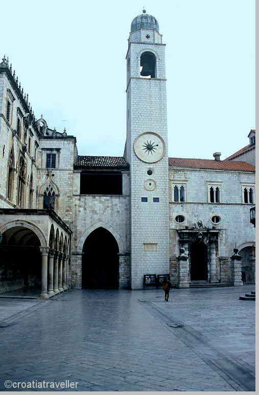
[{"label": "dark pointed archway at ground level just left of the clock tower", "polygon": [[112,234],[99,227],[83,245],[82,288],[119,288],[119,246]]}]

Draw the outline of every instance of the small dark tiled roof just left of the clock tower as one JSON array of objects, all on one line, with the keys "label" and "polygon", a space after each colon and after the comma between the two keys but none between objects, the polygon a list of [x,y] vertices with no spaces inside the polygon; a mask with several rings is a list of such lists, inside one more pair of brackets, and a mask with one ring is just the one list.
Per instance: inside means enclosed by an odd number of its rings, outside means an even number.
[{"label": "small dark tiled roof just left of the clock tower", "polygon": [[123,156],[82,156],[78,155],[77,167],[129,169],[129,164]]}]

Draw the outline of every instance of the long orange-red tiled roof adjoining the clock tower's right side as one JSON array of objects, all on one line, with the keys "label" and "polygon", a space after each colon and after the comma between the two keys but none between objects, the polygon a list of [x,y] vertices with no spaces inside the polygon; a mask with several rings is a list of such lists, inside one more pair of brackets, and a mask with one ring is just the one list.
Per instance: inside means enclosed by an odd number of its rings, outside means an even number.
[{"label": "long orange-red tiled roof adjoining the clock tower's right side", "polygon": [[170,167],[254,172],[255,167],[247,162],[214,159],[168,158]]}]

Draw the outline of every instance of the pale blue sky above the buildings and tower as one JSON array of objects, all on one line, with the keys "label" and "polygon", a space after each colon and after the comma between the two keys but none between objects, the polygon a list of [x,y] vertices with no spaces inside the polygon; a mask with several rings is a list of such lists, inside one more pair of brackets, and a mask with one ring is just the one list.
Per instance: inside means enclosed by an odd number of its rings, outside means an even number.
[{"label": "pale blue sky above the buildings and tower", "polygon": [[169,156],[224,159],[249,144],[255,1],[143,1],[2,3],[0,57],[9,56],[36,118],[76,136],[79,155],[123,156],[125,57],[145,7],[167,44]]}]

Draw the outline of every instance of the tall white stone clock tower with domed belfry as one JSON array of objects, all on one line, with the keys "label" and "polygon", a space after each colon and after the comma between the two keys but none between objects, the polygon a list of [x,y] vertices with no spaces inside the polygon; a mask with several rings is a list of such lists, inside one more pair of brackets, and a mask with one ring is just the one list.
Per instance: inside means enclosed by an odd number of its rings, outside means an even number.
[{"label": "tall white stone clock tower with domed belfry", "polygon": [[128,42],[131,288],[142,289],[145,274],[170,269],[165,44],[156,18],[143,10],[132,21]]}]

